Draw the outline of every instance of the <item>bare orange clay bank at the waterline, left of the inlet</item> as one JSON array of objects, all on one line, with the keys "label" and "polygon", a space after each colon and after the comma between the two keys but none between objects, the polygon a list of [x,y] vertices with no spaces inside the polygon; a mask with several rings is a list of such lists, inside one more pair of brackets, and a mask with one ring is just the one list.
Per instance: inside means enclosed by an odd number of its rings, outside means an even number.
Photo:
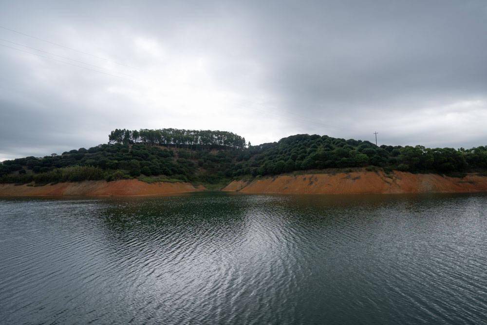
[{"label": "bare orange clay bank at the waterline, left of the inlet", "polygon": [[189,183],[152,183],[136,179],[113,182],[83,181],[77,183],[57,183],[44,186],[27,186],[0,184],[0,196],[139,196],[165,195],[206,190],[205,187],[194,187]]}]

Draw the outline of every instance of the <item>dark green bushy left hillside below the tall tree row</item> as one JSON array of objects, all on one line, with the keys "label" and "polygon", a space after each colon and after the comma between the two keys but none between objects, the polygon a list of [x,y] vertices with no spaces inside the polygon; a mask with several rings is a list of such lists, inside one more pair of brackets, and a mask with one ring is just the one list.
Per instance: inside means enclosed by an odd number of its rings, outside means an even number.
[{"label": "dark green bushy left hillside below the tall tree row", "polygon": [[[147,144],[103,144],[78,149],[62,155],[43,158],[26,157],[4,161],[0,165],[3,183],[37,181],[37,175],[56,172],[66,167],[96,168],[96,178],[115,180],[140,175],[165,175],[192,182],[217,182],[229,177],[237,151],[231,150],[169,150]],[[62,181],[64,178],[59,178]],[[88,178],[86,178],[88,179]]]}]

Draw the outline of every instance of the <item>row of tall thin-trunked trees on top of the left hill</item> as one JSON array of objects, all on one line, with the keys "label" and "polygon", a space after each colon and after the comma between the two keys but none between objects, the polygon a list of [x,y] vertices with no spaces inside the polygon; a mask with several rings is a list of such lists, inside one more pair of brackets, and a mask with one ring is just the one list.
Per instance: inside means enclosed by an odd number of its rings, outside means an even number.
[{"label": "row of tall thin-trunked trees on top of the left hill", "polygon": [[115,129],[109,137],[110,143],[146,143],[151,145],[174,146],[176,148],[231,148],[244,149],[245,138],[226,131],[185,130],[185,129]]}]

